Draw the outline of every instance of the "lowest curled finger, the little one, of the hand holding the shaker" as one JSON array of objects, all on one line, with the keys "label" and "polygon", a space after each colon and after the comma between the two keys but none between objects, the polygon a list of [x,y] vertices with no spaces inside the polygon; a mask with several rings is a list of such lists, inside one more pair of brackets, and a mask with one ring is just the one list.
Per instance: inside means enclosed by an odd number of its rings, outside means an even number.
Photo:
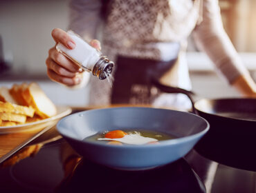
[{"label": "lowest curled finger, the little one, of the hand holding the shaker", "polygon": [[81,79],[79,77],[73,77],[73,78],[62,77],[49,68],[47,69],[47,74],[52,81],[63,83],[64,85],[77,85],[81,82]]}]

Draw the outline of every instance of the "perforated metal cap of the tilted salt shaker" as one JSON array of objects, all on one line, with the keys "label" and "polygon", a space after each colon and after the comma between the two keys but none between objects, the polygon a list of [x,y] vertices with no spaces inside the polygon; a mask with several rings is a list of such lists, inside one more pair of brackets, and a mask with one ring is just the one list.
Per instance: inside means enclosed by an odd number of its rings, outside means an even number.
[{"label": "perforated metal cap of the tilted salt shaker", "polygon": [[93,75],[100,80],[104,80],[113,71],[113,61],[110,61],[106,56],[100,57],[99,61],[93,67]]}]

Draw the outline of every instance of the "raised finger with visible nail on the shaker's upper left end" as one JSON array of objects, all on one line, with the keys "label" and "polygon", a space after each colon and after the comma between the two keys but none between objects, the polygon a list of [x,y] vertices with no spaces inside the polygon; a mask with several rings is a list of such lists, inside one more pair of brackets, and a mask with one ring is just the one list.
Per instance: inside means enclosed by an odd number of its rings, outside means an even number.
[{"label": "raised finger with visible nail on the shaker's upper left end", "polygon": [[74,49],[75,48],[75,41],[68,34],[59,28],[55,28],[52,31],[52,37],[56,43],[62,43],[66,46],[66,48]]}]

